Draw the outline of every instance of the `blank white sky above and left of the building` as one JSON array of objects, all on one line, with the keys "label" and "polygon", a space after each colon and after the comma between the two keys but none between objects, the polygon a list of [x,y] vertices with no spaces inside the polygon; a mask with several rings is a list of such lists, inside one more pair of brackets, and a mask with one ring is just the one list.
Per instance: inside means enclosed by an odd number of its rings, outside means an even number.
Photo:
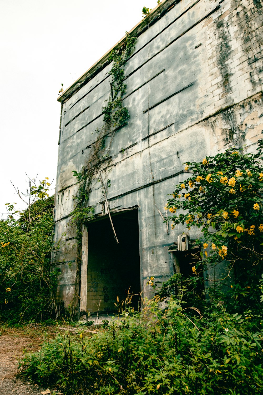
[{"label": "blank white sky above and left of the building", "polygon": [[7,202],[24,208],[10,180],[25,192],[25,173],[54,177],[54,188],[60,84],[88,70],[142,19],[144,6],[157,1],[0,0],[0,213]]}]

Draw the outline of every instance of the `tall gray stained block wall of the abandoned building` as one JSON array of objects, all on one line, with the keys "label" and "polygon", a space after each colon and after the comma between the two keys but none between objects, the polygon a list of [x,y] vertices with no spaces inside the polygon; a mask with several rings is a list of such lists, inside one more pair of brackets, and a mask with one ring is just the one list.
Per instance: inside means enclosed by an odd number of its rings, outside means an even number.
[{"label": "tall gray stained block wall of the abandoned building", "polygon": [[[145,296],[150,291],[148,276],[164,281],[172,275],[168,246],[186,230],[177,226],[167,234],[157,211],[165,216],[167,194],[187,178],[183,163],[200,161],[233,145],[246,145],[252,152],[261,138],[261,7],[259,0],[166,0],[154,11],[154,23],[147,27],[144,22],[144,27],[135,28],[140,35],[125,65],[127,92],[123,98],[130,119],[116,131],[111,144],[114,166],[108,168],[111,187],[107,198],[112,212],[138,206],[138,271]],[[103,60],[92,69],[97,71],[82,76],[60,99],[54,242],[61,237],[62,241],[53,263],[61,269],[58,298],[67,307],[77,292],[80,309],[89,312],[97,311],[99,300],[99,310],[113,308],[112,298],[103,302],[103,289],[111,281],[123,282],[116,273],[104,275],[105,265],[114,268],[114,257],[110,261],[105,258],[107,248],[111,248],[105,247],[105,238],[113,238],[111,231],[97,234],[99,252],[95,261],[94,256],[90,258],[89,266],[88,228],[84,227],[81,282],[76,289],[74,234],[63,234],[76,193],[72,171],[79,172],[85,166],[89,146],[96,139],[95,130],[103,124],[104,101],[110,96],[111,65],[102,64]],[[110,139],[106,138],[106,144]],[[95,179],[90,195],[95,214],[101,213],[103,201],[100,183]],[[128,228],[129,221],[123,220],[119,231],[125,235]],[[196,236],[191,229],[190,238]],[[118,258],[123,260],[123,267],[133,248],[128,236],[126,245],[126,254],[122,252],[122,258]]]}]

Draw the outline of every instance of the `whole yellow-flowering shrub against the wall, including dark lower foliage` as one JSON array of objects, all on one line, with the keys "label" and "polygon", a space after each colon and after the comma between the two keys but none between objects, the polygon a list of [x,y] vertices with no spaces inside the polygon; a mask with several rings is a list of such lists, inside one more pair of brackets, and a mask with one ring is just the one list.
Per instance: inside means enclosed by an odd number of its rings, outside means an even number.
[{"label": "whole yellow-flowering shrub against the wall, including dark lower foliage", "polygon": [[165,207],[172,214],[172,228],[202,228],[196,243],[204,251],[203,261],[228,262],[229,273],[235,274],[229,291],[235,305],[241,301],[247,307],[259,300],[262,271],[262,149],[263,140],[256,154],[228,149],[199,163],[187,162],[185,170],[192,176],[175,186]]}]

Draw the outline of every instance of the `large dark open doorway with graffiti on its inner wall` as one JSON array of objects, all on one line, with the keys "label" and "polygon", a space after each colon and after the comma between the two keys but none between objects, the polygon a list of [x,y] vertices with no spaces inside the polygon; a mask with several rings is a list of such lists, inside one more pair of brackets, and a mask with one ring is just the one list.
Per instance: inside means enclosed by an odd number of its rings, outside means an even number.
[{"label": "large dark open doorway with graffiti on its inner wall", "polygon": [[128,291],[130,296],[133,294],[130,306],[138,310],[140,304],[138,209],[114,213],[112,222],[119,244],[108,216],[88,223],[87,312],[90,313],[116,311],[114,303],[120,307]]}]

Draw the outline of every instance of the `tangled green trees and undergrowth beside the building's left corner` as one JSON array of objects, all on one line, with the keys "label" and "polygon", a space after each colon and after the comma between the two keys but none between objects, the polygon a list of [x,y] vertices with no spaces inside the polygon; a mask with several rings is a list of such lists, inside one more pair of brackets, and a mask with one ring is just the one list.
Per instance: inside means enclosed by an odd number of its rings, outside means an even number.
[{"label": "tangled green trees and undergrowth beside the building's left corner", "polygon": [[56,310],[56,273],[50,273],[54,197],[48,195],[47,180],[36,184],[28,178],[26,194],[16,188],[28,207],[20,211],[15,203],[7,203],[9,216],[0,220],[2,320],[45,319]]}]

